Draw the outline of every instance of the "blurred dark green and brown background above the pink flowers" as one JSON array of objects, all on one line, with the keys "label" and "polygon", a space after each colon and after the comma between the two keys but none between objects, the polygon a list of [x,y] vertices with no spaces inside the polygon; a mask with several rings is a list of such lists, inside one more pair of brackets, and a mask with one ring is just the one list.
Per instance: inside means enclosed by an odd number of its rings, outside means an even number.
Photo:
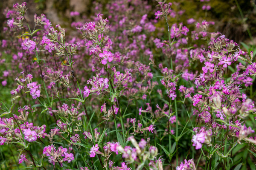
[{"label": "blurred dark green and brown background above the pink flowers", "polygon": [[[92,14],[93,2],[103,5],[111,2],[110,0],[1,0],[0,11],[8,7],[12,9],[14,3],[27,2],[27,16],[33,21],[34,14],[46,14],[53,24],[60,23],[65,28],[70,26],[70,11],[80,12],[80,16],[90,16]],[[256,0],[210,0],[201,2],[201,0],[169,0],[173,8],[183,10],[181,19],[186,20],[194,18],[195,20],[207,20],[215,22],[215,30],[225,34],[227,38],[236,42],[246,42],[255,44],[256,33]],[[157,5],[154,0],[148,0],[151,5]],[[211,6],[209,11],[202,10],[203,5]],[[152,16],[154,17],[154,16]],[[0,30],[6,26],[6,18],[0,15]],[[249,31],[248,31],[249,30]],[[0,34],[0,39],[3,35]]]}]

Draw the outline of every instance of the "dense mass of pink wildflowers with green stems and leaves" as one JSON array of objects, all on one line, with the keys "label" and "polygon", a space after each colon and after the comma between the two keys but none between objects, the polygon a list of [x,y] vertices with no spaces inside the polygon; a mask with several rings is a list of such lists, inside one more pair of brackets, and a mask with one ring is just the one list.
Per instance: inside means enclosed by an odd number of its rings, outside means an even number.
[{"label": "dense mass of pink wildflowers with green stems and leaves", "polygon": [[180,22],[177,5],[93,3],[70,32],[44,14],[30,24],[25,2],[6,9],[1,167],[255,168],[255,54],[212,21]]}]

